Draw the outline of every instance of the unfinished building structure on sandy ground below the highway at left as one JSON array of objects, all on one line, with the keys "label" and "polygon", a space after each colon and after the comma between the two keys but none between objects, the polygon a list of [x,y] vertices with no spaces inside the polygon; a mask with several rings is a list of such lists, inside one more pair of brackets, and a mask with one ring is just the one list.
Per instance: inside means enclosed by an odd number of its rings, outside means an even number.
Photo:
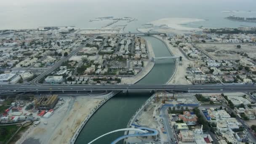
[{"label": "unfinished building structure on sandy ground below the highway at left", "polygon": [[37,109],[53,109],[58,102],[58,95],[43,96],[35,99],[35,107]]}]

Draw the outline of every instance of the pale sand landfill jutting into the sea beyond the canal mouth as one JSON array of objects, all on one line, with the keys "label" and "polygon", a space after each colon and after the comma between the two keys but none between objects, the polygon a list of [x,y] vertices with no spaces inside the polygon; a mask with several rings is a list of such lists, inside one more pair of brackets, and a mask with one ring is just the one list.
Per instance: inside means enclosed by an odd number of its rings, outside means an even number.
[{"label": "pale sand landfill jutting into the sea beyond the canal mouth", "polygon": [[191,19],[191,18],[164,18],[158,19],[156,21],[149,22],[149,24],[153,24],[154,26],[162,26],[167,25],[173,29],[179,30],[194,30],[197,28],[184,27],[183,24],[187,24],[190,22],[204,21],[203,19]]}]

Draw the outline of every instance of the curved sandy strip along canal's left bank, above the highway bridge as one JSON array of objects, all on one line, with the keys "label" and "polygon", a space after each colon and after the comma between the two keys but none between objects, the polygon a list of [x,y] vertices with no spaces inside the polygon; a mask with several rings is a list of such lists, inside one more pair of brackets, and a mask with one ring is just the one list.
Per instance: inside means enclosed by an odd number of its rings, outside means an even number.
[{"label": "curved sandy strip along canal's left bank, above the highway bridge", "polygon": [[[148,50],[148,57],[155,57],[153,48],[151,44],[146,40],[147,43],[147,50]],[[133,77],[123,77],[121,83],[124,84],[133,84],[141,80],[141,78],[145,77],[150,70],[154,67],[154,63],[150,60],[144,61],[144,68],[141,70],[141,72]]]}]

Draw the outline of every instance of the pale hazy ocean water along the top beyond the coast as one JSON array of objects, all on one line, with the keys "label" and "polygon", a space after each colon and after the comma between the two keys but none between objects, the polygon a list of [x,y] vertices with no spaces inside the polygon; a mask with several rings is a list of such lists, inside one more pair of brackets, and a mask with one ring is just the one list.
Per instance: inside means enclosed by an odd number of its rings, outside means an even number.
[{"label": "pale hazy ocean water along the top beyond the coast", "polygon": [[[226,16],[256,17],[256,0],[8,0],[0,2],[0,29],[30,29],[40,26],[101,28],[107,21],[89,22],[104,16],[129,16],[125,31],[161,18],[207,19],[186,27],[256,27],[256,23],[229,21]],[[221,11],[240,11],[222,13]],[[244,12],[243,12],[244,11]],[[252,12],[245,12],[252,11]]]}]

